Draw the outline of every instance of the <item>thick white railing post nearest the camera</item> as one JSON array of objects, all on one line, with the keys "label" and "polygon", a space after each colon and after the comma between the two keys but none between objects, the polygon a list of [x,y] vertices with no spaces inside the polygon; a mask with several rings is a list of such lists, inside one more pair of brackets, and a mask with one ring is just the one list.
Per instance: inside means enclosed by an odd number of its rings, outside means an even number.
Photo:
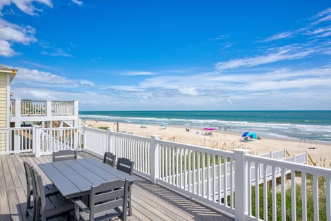
[{"label": "thick white railing post nearest the camera", "polygon": [[234,185],[235,191],[235,212],[234,219],[243,221],[248,213],[248,164],[245,161],[245,155],[250,150],[235,149],[234,152]]}]

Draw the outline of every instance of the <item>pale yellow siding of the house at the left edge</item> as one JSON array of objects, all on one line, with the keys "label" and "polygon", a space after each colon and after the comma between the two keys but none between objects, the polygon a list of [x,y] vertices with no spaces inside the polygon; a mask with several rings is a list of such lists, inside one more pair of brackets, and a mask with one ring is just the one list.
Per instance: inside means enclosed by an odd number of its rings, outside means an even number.
[{"label": "pale yellow siding of the house at the left edge", "polygon": [[[7,111],[7,75],[0,74],[0,128],[6,127]],[[3,146],[3,144],[5,144]],[[0,136],[0,151],[6,151],[6,135]]]}]

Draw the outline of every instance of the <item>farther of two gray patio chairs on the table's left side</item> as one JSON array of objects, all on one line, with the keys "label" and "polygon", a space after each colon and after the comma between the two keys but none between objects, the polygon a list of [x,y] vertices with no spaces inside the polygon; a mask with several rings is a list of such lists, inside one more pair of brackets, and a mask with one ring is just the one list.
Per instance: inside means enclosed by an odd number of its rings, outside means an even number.
[{"label": "farther of two gray patio chairs on the table's left side", "polygon": [[[33,167],[28,162],[23,162],[23,165],[24,171],[26,172],[26,216],[28,216],[29,209],[34,208],[34,206],[31,205],[31,196],[33,195],[31,170]],[[50,196],[58,194],[59,190],[52,184],[47,184],[44,186],[44,192],[46,196]]]}]

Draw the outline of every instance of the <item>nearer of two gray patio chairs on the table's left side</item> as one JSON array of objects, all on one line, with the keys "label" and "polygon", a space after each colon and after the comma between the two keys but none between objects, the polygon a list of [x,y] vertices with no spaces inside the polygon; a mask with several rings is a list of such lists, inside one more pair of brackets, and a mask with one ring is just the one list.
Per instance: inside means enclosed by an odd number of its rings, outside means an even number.
[{"label": "nearer of two gray patio chairs on the table's left side", "polygon": [[71,200],[66,200],[61,194],[52,195],[48,198],[43,191],[43,180],[36,169],[32,169],[32,185],[34,189],[35,213],[33,220],[46,221],[50,218],[55,218],[59,215],[67,215],[69,220],[69,211],[74,209],[74,204]]}]

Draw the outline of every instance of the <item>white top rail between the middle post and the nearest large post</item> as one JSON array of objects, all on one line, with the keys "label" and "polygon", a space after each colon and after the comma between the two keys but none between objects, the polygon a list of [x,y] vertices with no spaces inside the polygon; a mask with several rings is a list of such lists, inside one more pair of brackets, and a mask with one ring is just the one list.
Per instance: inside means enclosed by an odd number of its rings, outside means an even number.
[{"label": "white top rail between the middle post and the nearest large post", "polygon": [[168,146],[179,146],[181,148],[188,148],[188,149],[191,149],[192,151],[201,151],[201,152],[211,153],[214,155],[224,155],[225,157],[234,157],[234,153],[232,151],[223,151],[223,150],[208,148],[208,147],[203,147],[203,146],[182,144],[179,142],[172,142],[172,141],[168,141],[168,140],[157,140],[156,142],[157,142],[157,144],[163,144],[163,145],[168,145]]}]

